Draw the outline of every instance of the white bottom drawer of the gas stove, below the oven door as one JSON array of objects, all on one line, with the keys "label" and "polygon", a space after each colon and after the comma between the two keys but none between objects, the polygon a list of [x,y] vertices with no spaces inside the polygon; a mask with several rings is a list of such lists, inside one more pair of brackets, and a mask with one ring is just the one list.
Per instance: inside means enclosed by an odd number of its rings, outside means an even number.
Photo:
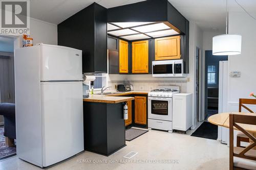
[{"label": "white bottom drawer of the gas stove, below the oven door", "polygon": [[160,130],[165,130],[165,131],[173,130],[172,122],[169,122],[169,121],[148,119],[147,123],[148,123],[148,128],[160,129]]}]

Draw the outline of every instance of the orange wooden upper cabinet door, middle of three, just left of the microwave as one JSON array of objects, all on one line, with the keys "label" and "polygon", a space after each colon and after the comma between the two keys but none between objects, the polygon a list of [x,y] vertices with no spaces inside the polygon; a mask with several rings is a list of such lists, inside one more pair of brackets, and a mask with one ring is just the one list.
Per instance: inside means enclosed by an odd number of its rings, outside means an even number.
[{"label": "orange wooden upper cabinet door, middle of three, just left of the microwave", "polygon": [[132,42],[132,73],[148,73],[148,41]]}]

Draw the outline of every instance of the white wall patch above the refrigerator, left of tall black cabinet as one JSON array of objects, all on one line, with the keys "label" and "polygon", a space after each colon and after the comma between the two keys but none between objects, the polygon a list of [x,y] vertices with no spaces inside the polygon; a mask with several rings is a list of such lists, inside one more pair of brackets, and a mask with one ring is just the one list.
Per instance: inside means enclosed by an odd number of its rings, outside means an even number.
[{"label": "white wall patch above the refrigerator, left of tall black cabinet", "polygon": [[30,35],[34,45],[37,43],[57,45],[57,25],[38,19],[30,19]]}]

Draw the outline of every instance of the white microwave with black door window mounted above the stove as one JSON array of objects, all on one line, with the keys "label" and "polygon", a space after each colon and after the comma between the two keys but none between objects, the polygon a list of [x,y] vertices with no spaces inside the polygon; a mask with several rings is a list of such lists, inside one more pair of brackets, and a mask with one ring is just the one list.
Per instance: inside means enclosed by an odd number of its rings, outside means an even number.
[{"label": "white microwave with black door window mounted above the stove", "polygon": [[153,77],[184,77],[183,60],[152,61]]}]

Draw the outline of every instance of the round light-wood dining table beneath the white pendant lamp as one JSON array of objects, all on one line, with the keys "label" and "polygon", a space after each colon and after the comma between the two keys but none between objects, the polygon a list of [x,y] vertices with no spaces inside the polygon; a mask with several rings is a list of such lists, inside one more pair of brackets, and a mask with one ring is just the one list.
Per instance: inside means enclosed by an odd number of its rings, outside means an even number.
[{"label": "round light-wood dining table beneath the white pendant lamp", "polygon": [[[208,122],[214,125],[222,126],[225,128],[229,128],[229,114],[243,114],[243,115],[254,115],[256,116],[256,113],[242,113],[242,112],[227,112],[227,113],[219,113],[214,114],[208,118]],[[238,124],[242,128],[244,128],[247,132],[249,132],[251,135],[256,137],[256,125],[247,125],[247,124]],[[236,127],[234,127],[235,130],[238,130]],[[252,140],[250,139],[250,142]],[[253,148],[256,150],[256,147]]]}]

